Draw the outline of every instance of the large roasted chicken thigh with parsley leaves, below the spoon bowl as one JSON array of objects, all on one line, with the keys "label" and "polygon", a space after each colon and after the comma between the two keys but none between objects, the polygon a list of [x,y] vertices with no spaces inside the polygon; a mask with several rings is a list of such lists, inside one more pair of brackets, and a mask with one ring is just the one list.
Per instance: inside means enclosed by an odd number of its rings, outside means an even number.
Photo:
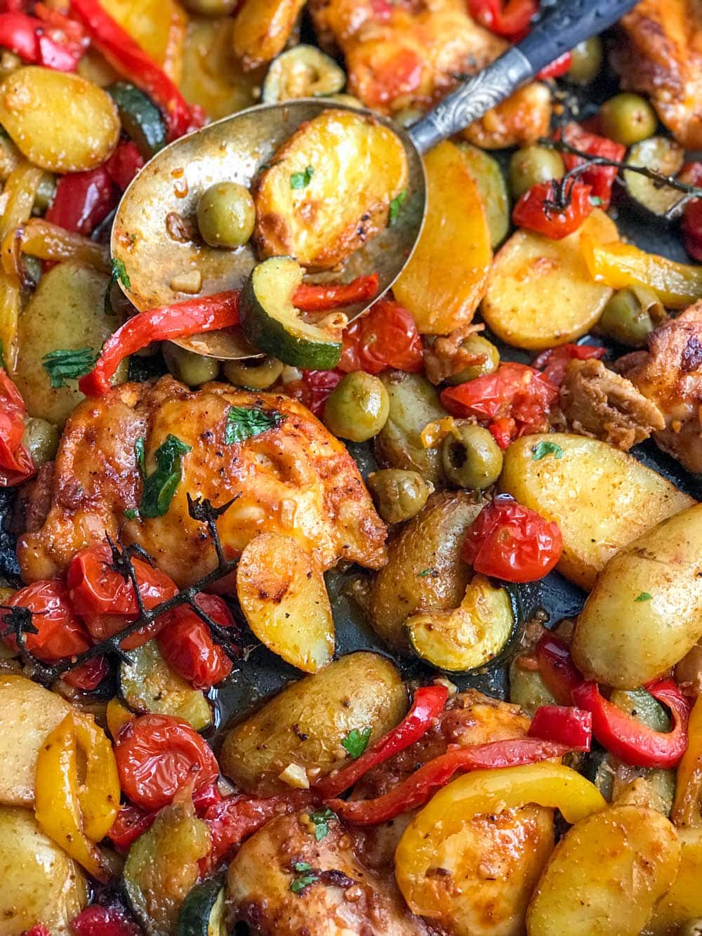
[{"label": "large roasted chicken thigh with parsley leaves, below the spoon bowl", "polygon": [[[277,428],[227,445],[231,406],[261,407],[285,418]],[[134,444],[146,438],[151,473],[154,452],[168,434],[192,446],[168,513],[126,520],[124,509],[139,505],[141,496]],[[371,567],[385,562],[386,527],[356,462],[304,406],[225,384],[191,391],[163,377],[124,384],[74,410],[56,459],[49,516],[19,544],[22,577],[61,575],[80,548],[121,532],[179,584],[196,581],[214,568],[215,554],[202,541],[201,524],[189,517],[187,491],[214,505],[238,498],[218,521],[230,555],[268,531],[294,536],[323,569],[342,558]]]}]

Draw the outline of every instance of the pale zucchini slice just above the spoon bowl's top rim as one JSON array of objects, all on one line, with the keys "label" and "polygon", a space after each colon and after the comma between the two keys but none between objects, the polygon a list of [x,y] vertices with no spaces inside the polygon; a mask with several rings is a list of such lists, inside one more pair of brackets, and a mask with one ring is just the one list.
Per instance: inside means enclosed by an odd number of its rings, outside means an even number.
[{"label": "pale zucchini slice just above the spoon bowl's top rim", "polygon": [[300,45],[282,52],[271,62],[263,82],[264,104],[297,97],[335,95],[346,83],[344,71],[316,46]]}]

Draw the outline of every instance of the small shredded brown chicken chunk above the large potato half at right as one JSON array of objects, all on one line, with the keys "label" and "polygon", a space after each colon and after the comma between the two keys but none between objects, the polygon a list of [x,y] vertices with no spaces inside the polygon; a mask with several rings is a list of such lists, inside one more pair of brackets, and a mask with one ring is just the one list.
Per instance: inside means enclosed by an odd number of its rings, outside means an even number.
[{"label": "small shredded brown chicken chunk above the large potato half at right", "polygon": [[568,429],[628,451],[665,420],[655,403],[601,360],[574,360],[561,386],[561,413]]}]

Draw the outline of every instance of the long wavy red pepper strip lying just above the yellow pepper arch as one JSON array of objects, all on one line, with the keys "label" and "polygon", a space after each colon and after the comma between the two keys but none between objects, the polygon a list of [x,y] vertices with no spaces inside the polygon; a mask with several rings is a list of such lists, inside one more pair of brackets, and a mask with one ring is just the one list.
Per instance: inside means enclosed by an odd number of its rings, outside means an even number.
[{"label": "long wavy red pepper strip lying just above the yellow pepper arch", "polygon": [[407,810],[427,803],[434,791],[467,770],[490,770],[535,764],[551,757],[563,757],[574,750],[566,744],[539,738],[515,738],[475,744],[472,747],[450,745],[445,754],[419,768],[382,797],[374,799],[329,799],[326,805],[347,822],[357,826],[378,826]]}]

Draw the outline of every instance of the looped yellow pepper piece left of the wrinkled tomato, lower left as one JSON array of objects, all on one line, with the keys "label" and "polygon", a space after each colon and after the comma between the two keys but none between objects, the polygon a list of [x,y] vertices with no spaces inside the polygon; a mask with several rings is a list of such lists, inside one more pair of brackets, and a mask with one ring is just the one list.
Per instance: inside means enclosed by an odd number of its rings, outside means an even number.
[{"label": "looped yellow pepper piece left of the wrinkled tomato, lower left", "polygon": [[95,842],[110,831],[119,807],[120,782],[110,740],[92,716],[69,712],[37,757],[37,823],[93,877],[107,882],[110,868]]}]

